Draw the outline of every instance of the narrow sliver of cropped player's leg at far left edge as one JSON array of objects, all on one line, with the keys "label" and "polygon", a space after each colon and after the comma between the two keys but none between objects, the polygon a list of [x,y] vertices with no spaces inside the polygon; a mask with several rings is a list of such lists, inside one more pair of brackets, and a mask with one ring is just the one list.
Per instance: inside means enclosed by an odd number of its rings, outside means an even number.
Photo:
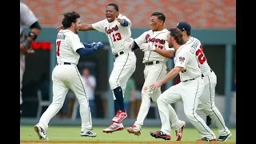
[{"label": "narrow sliver of cropped player's leg at far left edge", "polygon": [[20,119],[22,118],[22,80],[23,80],[23,74],[25,71],[25,55],[24,54],[20,54],[20,65],[19,65],[19,75],[20,75],[20,90],[19,90],[19,97],[20,97]]}]

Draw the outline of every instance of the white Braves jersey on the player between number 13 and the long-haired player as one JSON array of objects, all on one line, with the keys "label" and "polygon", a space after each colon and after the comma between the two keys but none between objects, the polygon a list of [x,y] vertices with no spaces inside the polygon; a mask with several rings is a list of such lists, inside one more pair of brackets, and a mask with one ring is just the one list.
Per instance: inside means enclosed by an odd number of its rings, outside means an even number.
[{"label": "white Braves jersey on the player between number 13 and the long-haired player", "polygon": [[[161,31],[148,30],[138,38],[135,38],[134,41],[137,43],[138,46],[141,46],[142,43],[150,43],[159,49],[174,50],[174,48],[169,48],[169,43],[166,41],[168,34],[169,31],[166,29],[163,29]],[[152,61],[167,62],[167,60],[168,58],[165,58],[154,51],[144,51],[143,63]]]}]

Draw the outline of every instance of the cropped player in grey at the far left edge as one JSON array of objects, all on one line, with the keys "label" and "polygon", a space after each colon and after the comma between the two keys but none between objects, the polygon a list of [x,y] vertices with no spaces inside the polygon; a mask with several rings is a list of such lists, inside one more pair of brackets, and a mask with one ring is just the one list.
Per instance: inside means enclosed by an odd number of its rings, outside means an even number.
[{"label": "cropped player in grey at the far left edge", "polygon": [[[24,26],[30,27],[30,33],[25,34]],[[38,38],[41,32],[41,26],[38,18],[30,10],[25,3],[20,2],[20,118],[22,118],[22,79],[25,71],[25,55],[34,54],[34,50],[30,48],[32,42]]]}]

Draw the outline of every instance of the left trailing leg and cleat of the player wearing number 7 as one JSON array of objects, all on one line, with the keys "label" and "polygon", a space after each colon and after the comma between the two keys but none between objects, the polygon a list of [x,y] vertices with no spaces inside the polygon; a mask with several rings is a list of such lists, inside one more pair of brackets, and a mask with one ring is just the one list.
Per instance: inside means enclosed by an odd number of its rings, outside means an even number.
[{"label": "left trailing leg and cleat of the player wearing number 7", "polygon": [[60,69],[61,66],[54,67],[52,73],[53,80],[53,100],[48,106],[47,110],[42,114],[37,125],[34,126],[34,130],[38,133],[40,139],[48,139],[46,136],[46,130],[48,128],[50,119],[53,118],[59,110],[61,110],[66,94],[69,88],[63,82],[65,77],[68,77],[68,74],[63,74],[66,70]]}]

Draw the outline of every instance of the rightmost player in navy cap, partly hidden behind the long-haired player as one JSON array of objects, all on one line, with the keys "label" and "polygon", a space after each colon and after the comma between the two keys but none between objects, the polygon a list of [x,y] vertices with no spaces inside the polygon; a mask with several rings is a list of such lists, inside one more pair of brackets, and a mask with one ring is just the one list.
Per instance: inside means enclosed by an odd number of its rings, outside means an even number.
[{"label": "rightmost player in navy cap, partly hidden behind the long-haired player", "polygon": [[186,45],[195,50],[195,54],[198,58],[198,64],[202,71],[202,79],[205,84],[205,88],[200,97],[198,110],[208,114],[213,122],[218,127],[219,137],[217,141],[226,142],[231,137],[230,130],[226,127],[222,114],[214,104],[215,87],[217,84],[217,76],[210,68],[206,55],[203,53],[202,44],[198,38],[194,38],[190,35],[191,26],[188,22],[178,22],[177,28],[182,31],[182,38],[186,42]]}]

